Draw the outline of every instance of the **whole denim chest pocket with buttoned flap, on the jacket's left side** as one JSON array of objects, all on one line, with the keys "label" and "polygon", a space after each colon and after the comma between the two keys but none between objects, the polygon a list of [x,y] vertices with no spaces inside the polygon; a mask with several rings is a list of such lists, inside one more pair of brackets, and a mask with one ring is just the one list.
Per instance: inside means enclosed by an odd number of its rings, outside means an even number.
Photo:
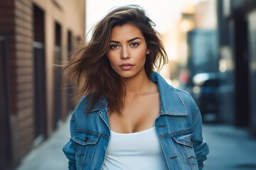
[{"label": "whole denim chest pocket with buttoned flap, on the jacket's left side", "polygon": [[75,136],[72,138],[77,145],[75,161],[81,166],[90,164],[99,137],[98,135],[87,134],[85,132],[75,132]]}]

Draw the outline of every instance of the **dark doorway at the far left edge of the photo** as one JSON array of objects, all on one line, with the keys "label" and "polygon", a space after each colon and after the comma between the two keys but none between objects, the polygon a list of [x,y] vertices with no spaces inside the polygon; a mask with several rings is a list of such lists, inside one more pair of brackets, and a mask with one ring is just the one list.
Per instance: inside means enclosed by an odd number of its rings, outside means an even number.
[{"label": "dark doorway at the far left edge of the photo", "polygon": [[11,165],[9,98],[7,85],[6,37],[0,35],[0,169]]}]

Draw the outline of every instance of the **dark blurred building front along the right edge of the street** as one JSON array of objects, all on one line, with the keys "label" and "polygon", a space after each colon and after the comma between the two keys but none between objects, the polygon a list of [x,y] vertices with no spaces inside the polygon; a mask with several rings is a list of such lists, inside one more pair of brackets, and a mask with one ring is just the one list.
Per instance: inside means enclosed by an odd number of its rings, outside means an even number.
[{"label": "dark blurred building front along the right edge of the street", "polygon": [[256,136],[256,1],[217,2],[220,120]]}]

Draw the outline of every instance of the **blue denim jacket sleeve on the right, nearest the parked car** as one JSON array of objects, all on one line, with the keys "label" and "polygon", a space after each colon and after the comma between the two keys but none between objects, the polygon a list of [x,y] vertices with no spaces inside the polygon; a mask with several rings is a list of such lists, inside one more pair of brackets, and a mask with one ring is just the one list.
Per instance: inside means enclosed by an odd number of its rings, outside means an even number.
[{"label": "blue denim jacket sleeve on the right, nearest the parked car", "polygon": [[[196,106],[196,103],[195,103]],[[196,153],[198,161],[198,168],[203,169],[203,162],[207,159],[206,155],[209,153],[209,148],[202,136],[202,117],[196,106],[196,115],[193,117],[193,148]]]}]

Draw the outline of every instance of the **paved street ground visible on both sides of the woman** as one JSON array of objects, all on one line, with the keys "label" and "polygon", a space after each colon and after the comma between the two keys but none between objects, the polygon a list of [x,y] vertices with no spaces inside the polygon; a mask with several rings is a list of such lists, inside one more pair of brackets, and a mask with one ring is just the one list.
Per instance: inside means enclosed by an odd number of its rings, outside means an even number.
[{"label": "paved street ground visible on both sides of the woman", "polygon": [[[204,125],[210,147],[206,170],[256,169],[256,140],[246,130],[229,125]],[[69,120],[40,147],[33,149],[16,170],[65,170],[68,159],[62,147],[69,140]]]}]

